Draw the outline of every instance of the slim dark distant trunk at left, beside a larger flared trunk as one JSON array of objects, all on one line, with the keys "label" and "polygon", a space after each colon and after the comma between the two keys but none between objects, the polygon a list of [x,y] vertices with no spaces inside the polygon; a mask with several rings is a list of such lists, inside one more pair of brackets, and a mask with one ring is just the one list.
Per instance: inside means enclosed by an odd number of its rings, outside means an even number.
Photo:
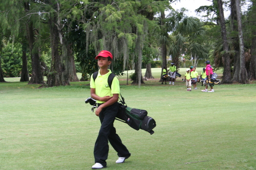
[{"label": "slim dark distant trunk at left, beside a larger flared trunk", "polygon": [[29,81],[29,70],[28,70],[28,60],[27,60],[27,47],[22,44],[22,74],[20,75],[20,82]]}]

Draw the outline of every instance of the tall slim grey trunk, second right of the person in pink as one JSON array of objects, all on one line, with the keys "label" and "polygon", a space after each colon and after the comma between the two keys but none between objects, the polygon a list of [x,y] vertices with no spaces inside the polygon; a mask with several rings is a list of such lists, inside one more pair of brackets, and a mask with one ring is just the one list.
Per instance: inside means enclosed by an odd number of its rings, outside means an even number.
[{"label": "tall slim grey trunk, second right of the person in pink", "polygon": [[242,17],[240,13],[240,0],[236,0],[236,10],[238,17],[238,35],[239,35],[239,47],[240,47],[240,74],[239,83],[247,84],[248,76],[245,68],[245,54],[244,54],[244,37],[242,31]]}]

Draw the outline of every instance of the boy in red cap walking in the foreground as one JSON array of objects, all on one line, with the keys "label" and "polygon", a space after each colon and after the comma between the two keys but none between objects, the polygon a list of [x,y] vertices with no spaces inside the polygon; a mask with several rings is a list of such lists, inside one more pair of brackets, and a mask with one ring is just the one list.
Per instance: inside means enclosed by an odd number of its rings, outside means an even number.
[{"label": "boy in red cap walking in the foreground", "polygon": [[100,69],[95,82],[91,77],[90,87],[91,97],[98,103],[95,114],[99,116],[101,127],[94,145],[95,164],[92,169],[101,169],[106,167],[106,159],[109,154],[108,140],[119,156],[116,163],[123,163],[131,154],[116,134],[113,125],[118,112],[117,101],[120,93],[119,81],[116,77],[113,79],[111,88],[108,85],[108,77],[111,74],[108,67],[112,63],[113,56],[109,51],[103,50],[95,59],[98,60]]}]

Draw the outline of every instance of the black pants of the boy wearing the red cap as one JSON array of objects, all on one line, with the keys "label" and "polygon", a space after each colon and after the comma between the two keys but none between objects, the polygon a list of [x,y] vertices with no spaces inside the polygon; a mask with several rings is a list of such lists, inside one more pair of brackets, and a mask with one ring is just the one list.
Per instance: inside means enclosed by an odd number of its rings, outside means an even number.
[{"label": "black pants of the boy wearing the red cap", "polygon": [[122,143],[118,134],[116,134],[116,129],[113,126],[117,112],[118,103],[115,103],[109,107],[102,109],[99,114],[101,127],[94,145],[94,159],[95,163],[98,162],[103,166],[106,166],[106,159],[108,159],[108,141],[110,141],[110,144],[117,152],[118,157],[128,158],[131,155],[125,145]]}]

